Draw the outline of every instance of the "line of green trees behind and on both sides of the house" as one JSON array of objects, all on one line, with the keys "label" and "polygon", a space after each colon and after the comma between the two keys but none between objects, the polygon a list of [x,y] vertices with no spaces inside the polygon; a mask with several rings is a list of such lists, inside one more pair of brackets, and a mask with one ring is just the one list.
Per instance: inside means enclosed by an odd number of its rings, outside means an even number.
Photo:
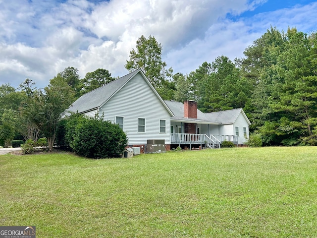
[{"label": "line of green trees behind and on both sides of the house", "polygon": [[[316,43],[316,32],[271,27],[245,49],[244,58],[219,56],[182,74],[166,69],[154,36],[141,36],[125,68],[141,68],[165,100],[195,100],[203,112],[242,108],[250,131],[264,145],[317,145]],[[36,139],[40,133],[54,143],[54,121],[61,113],[81,95],[115,79],[106,69],[80,79],[76,68],[66,67],[43,90],[30,79],[17,89],[1,85],[0,145],[17,135]]]}]

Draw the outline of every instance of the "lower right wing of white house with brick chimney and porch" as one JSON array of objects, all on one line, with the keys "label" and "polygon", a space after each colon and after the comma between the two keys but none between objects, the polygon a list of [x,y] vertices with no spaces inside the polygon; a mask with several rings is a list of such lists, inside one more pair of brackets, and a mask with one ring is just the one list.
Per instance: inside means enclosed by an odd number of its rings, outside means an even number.
[{"label": "lower right wing of white house with brick chimney and porch", "polygon": [[170,122],[171,144],[180,146],[185,143],[181,137],[193,133],[197,134],[197,142],[209,142],[207,145],[213,148],[219,147],[224,140],[243,145],[249,138],[251,123],[241,108],[202,113],[197,109],[197,103],[194,101],[186,101],[184,104],[174,101],[165,101],[165,103],[174,114]]}]

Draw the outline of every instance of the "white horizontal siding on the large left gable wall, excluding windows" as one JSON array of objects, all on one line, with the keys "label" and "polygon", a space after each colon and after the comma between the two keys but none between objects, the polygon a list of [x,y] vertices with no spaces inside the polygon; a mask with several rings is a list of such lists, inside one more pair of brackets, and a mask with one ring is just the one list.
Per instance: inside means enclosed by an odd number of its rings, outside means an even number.
[{"label": "white horizontal siding on the large left gable wall, excluding windows", "polygon": [[[148,139],[164,139],[170,144],[170,114],[140,73],[136,74],[100,109],[105,120],[124,118],[128,144],[146,144]],[[145,132],[138,132],[138,118],[145,118]],[[159,133],[159,120],[166,120],[166,133]],[[174,127],[175,129],[175,127]]]}]

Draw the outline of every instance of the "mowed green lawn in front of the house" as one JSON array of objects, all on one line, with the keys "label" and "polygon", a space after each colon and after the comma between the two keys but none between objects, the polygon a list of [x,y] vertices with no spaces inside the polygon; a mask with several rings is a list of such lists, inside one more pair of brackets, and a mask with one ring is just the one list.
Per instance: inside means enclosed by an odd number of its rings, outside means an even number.
[{"label": "mowed green lawn in front of the house", "polygon": [[38,238],[317,237],[317,147],[0,156],[0,226]]}]

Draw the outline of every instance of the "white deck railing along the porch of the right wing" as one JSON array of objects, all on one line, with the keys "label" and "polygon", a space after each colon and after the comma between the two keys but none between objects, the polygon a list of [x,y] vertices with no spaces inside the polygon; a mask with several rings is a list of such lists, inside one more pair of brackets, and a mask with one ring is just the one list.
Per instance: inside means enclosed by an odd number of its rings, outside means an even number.
[{"label": "white deck railing along the porch of the right wing", "polygon": [[223,142],[231,141],[235,144],[238,143],[236,135],[210,135],[205,134],[190,134],[190,133],[171,133],[171,144],[205,144],[207,142]]}]

